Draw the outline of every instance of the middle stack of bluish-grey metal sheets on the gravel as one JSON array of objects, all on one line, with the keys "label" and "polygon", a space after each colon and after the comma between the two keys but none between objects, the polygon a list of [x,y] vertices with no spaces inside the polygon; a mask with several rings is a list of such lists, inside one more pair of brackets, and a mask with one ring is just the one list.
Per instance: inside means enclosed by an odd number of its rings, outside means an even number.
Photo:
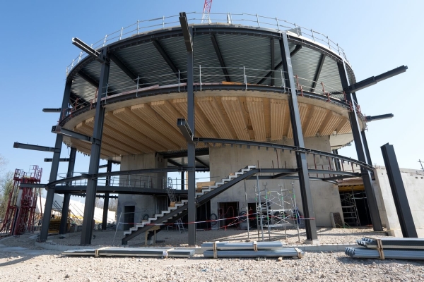
[{"label": "middle stack of bluish-grey metal sheets on the gravel", "polygon": [[201,245],[204,257],[303,257],[302,250],[283,247],[281,242],[229,243],[215,242]]}]

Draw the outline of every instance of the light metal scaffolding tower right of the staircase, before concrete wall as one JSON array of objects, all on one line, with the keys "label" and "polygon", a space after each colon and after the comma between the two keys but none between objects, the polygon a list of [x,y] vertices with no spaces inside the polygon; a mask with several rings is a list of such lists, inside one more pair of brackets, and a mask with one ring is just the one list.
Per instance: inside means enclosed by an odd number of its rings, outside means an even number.
[{"label": "light metal scaffolding tower right of the staircase, before concrete wall", "polygon": [[263,190],[259,185],[254,187],[258,239],[264,241],[264,228],[268,229],[269,240],[272,228],[284,228],[285,238],[288,227],[296,228],[299,236],[300,214],[296,205],[294,183],[290,189],[285,189],[283,184],[279,184],[279,190],[268,190],[267,185],[264,184]]}]

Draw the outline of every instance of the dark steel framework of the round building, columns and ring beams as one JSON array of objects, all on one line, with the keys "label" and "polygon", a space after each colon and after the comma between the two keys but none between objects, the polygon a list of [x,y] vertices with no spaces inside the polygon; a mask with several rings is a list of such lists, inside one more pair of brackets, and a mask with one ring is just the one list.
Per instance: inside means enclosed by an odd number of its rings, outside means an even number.
[{"label": "dark steel framework of the round building, columns and ring beams", "polygon": [[[204,11],[210,9],[212,1],[206,1]],[[206,4],[210,3],[209,6]],[[209,14],[209,13],[208,13]],[[252,15],[251,15],[252,16]],[[220,194],[226,189],[230,188],[235,183],[241,180],[257,176],[257,179],[264,178],[285,178],[285,179],[298,179],[300,182],[300,191],[302,206],[304,209],[304,216],[308,219],[314,218],[314,209],[312,205],[312,194],[310,189],[310,180],[322,180],[329,182],[336,182],[341,178],[357,177],[362,176],[365,190],[367,192],[367,199],[370,206],[370,213],[372,217],[372,223],[375,231],[382,230],[382,224],[379,219],[379,213],[377,209],[377,202],[375,200],[374,190],[371,186],[371,159],[370,152],[367,148],[367,140],[363,129],[365,126],[363,123],[367,120],[360,113],[358,100],[356,99],[355,91],[361,90],[365,87],[373,85],[381,80],[389,78],[393,75],[397,75],[406,71],[406,67],[396,68],[392,71],[377,75],[376,77],[369,78],[360,82],[355,81],[355,75],[346,60],[346,55],[343,49],[338,47],[338,44],[334,44],[328,37],[324,39],[324,43],[319,42],[318,33],[312,32],[312,36],[308,38],[305,30],[297,25],[291,26],[286,21],[278,21],[276,18],[276,27],[266,28],[261,27],[262,21],[259,20],[259,16],[256,15],[257,27],[248,27],[246,25],[220,25],[210,24],[207,25],[189,25],[186,13],[180,13],[179,16],[179,27],[170,27],[165,29],[165,17],[163,18],[162,30],[154,30],[139,33],[139,22],[136,25],[136,29],[132,32],[134,36],[123,39],[122,30],[119,35],[119,39],[107,39],[105,37],[102,40],[100,46],[90,47],[85,44],[81,39],[74,38],[73,44],[78,48],[81,48],[88,56],[78,57],[76,63],[67,69],[66,86],[64,90],[64,97],[60,111],[55,109],[55,112],[60,112],[59,126],[54,127],[53,132],[57,133],[56,144],[54,147],[40,147],[35,145],[23,145],[16,143],[15,147],[21,147],[24,149],[37,149],[45,152],[53,152],[52,158],[52,170],[50,172],[49,183],[45,185],[47,188],[47,200],[45,206],[45,214],[50,214],[52,211],[52,202],[54,192],[65,192],[66,199],[69,197],[69,193],[76,192],[76,189],[80,192],[86,193],[86,209],[84,210],[83,216],[83,232],[81,235],[81,245],[89,245],[92,238],[92,219],[96,193],[98,192],[126,192],[134,193],[139,192],[140,194],[156,193],[153,190],[146,190],[146,188],[138,187],[121,187],[114,188],[110,185],[110,180],[113,176],[124,176],[134,175],[141,173],[163,173],[170,171],[187,171],[188,172],[188,204],[186,207],[180,207],[172,212],[172,215],[163,216],[160,220],[167,221],[180,219],[182,215],[188,214],[189,221],[196,221],[196,206],[211,200],[212,197]],[[232,23],[237,17],[227,17],[225,23]],[[283,26],[281,23],[290,26]],[[283,28],[289,28],[289,31],[281,30]],[[303,33],[302,33],[303,32]],[[321,34],[319,34],[321,35]],[[261,68],[263,65],[256,66],[253,64],[252,75],[247,75],[244,65],[240,65],[240,60],[235,61],[232,56],[228,56],[228,50],[232,47],[230,44],[237,40],[228,40],[227,37],[245,36],[252,39],[252,44],[248,46],[240,46],[239,52],[241,54],[254,54],[249,53],[255,49],[261,47],[261,44],[266,42],[267,47],[271,52],[269,57],[260,57],[257,54],[259,61],[266,62],[266,66],[271,66],[271,70]],[[215,65],[208,66],[210,69],[215,68],[215,73],[209,76],[204,76],[202,83],[201,69],[204,66],[195,66],[196,57],[194,40],[199,38],[199,54],[204,56],[205,61],[215,60]],[[207,38],[207,39],[205,39]],[[238,37],[237,37],[238,38]],[[110,40],[109,42],[107,40]],[[183,42],[182,42],[183,41]],[[184,45],[182,44],[184,43]],[[269,45],[268,45],[269,44]],[[158,61],[158,63],[145,63],[143,65],[143,71],[145,73],[151,73],[154,71],[160,71],[155,69],[158,66],[166,68],[165,74],[161,74],[160,81],[156,81],[148,75],[136,75],[139,73],[139,66],[135,66],[132,62],[136,61],[134,58],[131,59],[133,54],[136,52],[127,51],[133,49],[136,46],[143,46],[146,48],[152,47],[155,52],[151,52],[149,60]],[[184,46],[184,49],[182,49]],[[208,48],[211,47],[212,52]],[[225,49],[226,48],[226,49]],[[178,49],[179,52],[172,52],[173,49]],[[227,52],[224,52],[225,49]],[[208,51],[205,51],[208,50]],[[204,53],[202,53],[204,52]],[[206,53],[205,53],[206,52]],[[178,54],[177,54],[178,53]],[[302,55],[305,54],[305,55]],[[309,63],[310,56],[317,56],[314,63],[311,63],[310,68],[302,69],[300,66],[305,63]],[[136,55],[141,56],[141,54]],[[296,56],[293,59],[293,56]],[[125,61],[125,60],[126,61]],[[251,58],[247,58],[250,60]],[[125,61],[125,63],[124,63]],[[111,63],[113,62],[113,63]],[[178,63],[177,63],[178,62]],[[184,63],[182,63],[184,62]],[[187,63],[185,63],[187,62]],[[300,63],[299,63],[300,62]],[[329,63],[334,65],[329,65]],[[312,66],[313,65],[313,66]],[[296,68],[300,74],[305,74],[305,78],[302,75],[294,75],[293,70]],[[242,72],[242,80],[240,80],[240,73]],[[113,73],[111,76],[110,73]],[[116,75],[119,73],[120,75]],[[199,75],[197,74],[199,73]],[[311,75],[312,74],[312,75]],[[310,75],[310,77],[306,77]],[[115,77],[116,76],[116,77]],[[322,82],[323,91],[317,92],[317,85],[319,78],[322,76],[331,78],[326,83]],[[237,77],[240,81],[237,80]],[[235,79],[236,78],[236,79]],[[205,82],[206,79],[206,82]],[[278,80],[279,79],[279,80]],[[307,85],[301,85],[299,79],[307,81]],[[223,82],[225,80],[225,83]],[[75,83],[73,83],[75,81]],[[305,82],[306,83],[306,82]],[[280,85],[278,85],[280,84]],[[330,86],[331,85],[331,86]],[[305,87],[304,87],[305,86]],[[87,89],[93,90],[88,94],[85,92]],[[305,88],[305,90],[304,90]],[[326,89],[326,90],[325,90]],[[196,104],[194,101],[194,92],[202,91],[221,91],[231,90],[242,95],[248,92],[272,92],[276,95],[284,95],[288,101],[288,111],[290,113],[290,127],[291,134],[293,134],[293,146],[278,145],[271,142],[259,142],[249,140],[232,140],[225,138],[208,138],[198,137],[198,126],[195,126],[195,109]],[[309,91],[308,91],[309,90]],[[102,140],[103,128],[107,125],[105,121],[106,106],[124,101],[131,101],[133,99],[143,99],[145,97],[155,97],[158,95],[166,94],[178,94],[180,92],[187,92],[187,112],[185,116],[187,119],[181,119],[178,122],[178,128],[182,130],[182,134],[185,137],[187,144],[187,165],[181,165],[174,161],[173,167],[170,168],[153,168],[153,169],[141,169],[132,171],[115,171],[112,172],[109,169],[106,173],[98,173],[100,158],[107,158],[112,160],[113,157],[117,157],[113,152],[108,149],[115,148],[118,151],[122,151],[117,146],[110,146],[107,140]],[[97,94],[93,94],[97,93]],[[330,103],[343,111],[348,111],[349,121],[351,129],[353,130],[353,140],[355,141],[356,151],[358,153],[358,159],[354,160],[347,157],[339,156],[338,154],[331,154],[329,152],[322,152],[315,149],[308,149],[305,147],[304,133],[302,131],[302,121],[300,118],[300,109],[298,104],[298,97],[302,99],[316,99],[319,102]],[[88,113],[88,111],[95,109],[94,124],[93,124],[93,135],[89,136],[83,133],[77,133],[69,128],[69,123],[73,121],[73,118],[80,116],[81,114]],[[372,118],[371,118],[372,120]],[[177,121],[173,121],[176,125]],[[122,124],[122,123],[119,123]],[[363,126],[361,126],[363,125]],[[283,125],[280,125],[283,126]],[[199,127],[200,128],[200,127]],[[64,179],[57,180],[57,172],[59,167],[59,161],[61,154],[61,145],[64,141],[64,135],[66,140],[76,140],[78,142],[83,141],[84,145],[83,152],[90,154],[90,165],[88,173],[83,173],[80,176],[73,176],[72,173]],[[222,137],[222,136],[221,136]],[[86,146],[88,142],[88,147]],[[196,145],[204,143],[207,146],[212,144],[222,143],[230,145],[246,145],[246,146],[257,146],[258,148],[264,147],[266,149],[281,149],[290,150],[295,152],[296,167],[295,168],[255,168],[248,173],[243,174],[235,179],[228,181],[215,190],[208,192],[200,197],[196,198],[196,187],[195,187],[195,172],[196,171],[208,171],[208,164],[199,159],[196,155]],[[78,147],[76,145],[74,147]],[[108,147],[107,147],[108,146]],[[159,146],[160,147],[160,146]],[[102,151],[103,150],[103,151]],[[157,151],[157,150],[156,150]],[[103,154],[102,154],[103,152]],[[326,169],[310,169],[307,166],[307,155],[317,154],[319,156],[328,159],[330,168]],[[196,159],[197,156],[197,159]],[[73,171],[71,167],[71,159],[69,164],[69,171]],[[331,159],[336,167],[331,168]],[[196,161],[201,167],[196,168]],[[360,174],[354,172],[343,171],[340,165],[343,162],[348,161],[351,164],[357,164],[360,166]],[[172,164],[172,161],[170,162]],[[109,164],[108,164],[109,165]],[[72,169],[71,169],[72,168]],[[259,176],[259,173],[278,173],[274,176]],[[312,173],[322,173],[323,177],[314,177]],[[329,176],[326,177],[325,175]],[[98,185],[98,178],[107,177],[107,183],[105,186]],[[76,188],[74,181],[86,179],[83,187]],[[66,185],[59,185],[66,183]],[[36,185],[37,183],[33,183]],[[105,202],[107,199],[105,195]],[[66,204],[64,204],[64,211]],[[158,222],[162,222],[158,221]],[[47,239],[47,231],[49,225],[49,216],[45,216],[43,219],[42,231],[40,233],[40,240]],[[61,226],[63,231],[63,226]],[[308,240],[317,240],[317,229],[314,221],[305,221],[305,228]],[[143,228],[139,229],[136,234],[143,231]],[[133,234],[130,237],[134,237]],[[123,243],[131,238],[125,238]],[[189,225],[189,244],[194,245],[196,243],[196,229],[195,225]]]}]

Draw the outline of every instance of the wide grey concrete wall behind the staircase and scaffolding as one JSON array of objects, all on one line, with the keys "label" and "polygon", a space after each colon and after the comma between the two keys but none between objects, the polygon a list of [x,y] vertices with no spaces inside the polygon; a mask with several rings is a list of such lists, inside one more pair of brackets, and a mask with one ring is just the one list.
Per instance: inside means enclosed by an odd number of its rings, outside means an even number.
[{"label": "wide grey concrete wall behind the staircase and scaffolding", "polygon": [[[293,145],[293,140],[287,140],[284,144]],[[305,147],[331,152],[329,137],[305,138]],[[295,152],[290,154],[289,151],[282,152],[273,149],[267,151],[265,148],[258,149],[258,147],[247,149],[246,146],[242,148],[239,146],[211,147],[209,152],[211,180],[216,182],[220,182],[222,178],[226,178],[230,173],[234,173],[247,165],[259,165],[262,168],[296,167]],[[318,169],[322,169],[323,166],[324,169],[329,169],[329,166],[334,167],[334,164],[329,164],[329,159],[325,157],[319,158],[317,156],[315,162]],[[307,164],[309,168],[315,168],[312,155],[308,155]],[[319,175],[319,177],[323,176]],[[303,214],[298,180],[259,180],[261,189],[264,189],[265,183],[268,183],[267,190],[280,190],[279,184],[287,189],[292,187],[291,183],[295,183],[296,203],[301,214]],[[247,202],[255,202],[255,185],[257,185],[256,180],[246,180]],[[331,226],[331,212],[339,212],[343,218],[338,188],[334,188],[331,183],[319,181],[310,181],[310,185],[317,226]],[[245,211],[245,182],[237,183],[237,185],[213,198],[211,200],[211,213],[218,215],[218,202],[239,202],[240,212]]]}]

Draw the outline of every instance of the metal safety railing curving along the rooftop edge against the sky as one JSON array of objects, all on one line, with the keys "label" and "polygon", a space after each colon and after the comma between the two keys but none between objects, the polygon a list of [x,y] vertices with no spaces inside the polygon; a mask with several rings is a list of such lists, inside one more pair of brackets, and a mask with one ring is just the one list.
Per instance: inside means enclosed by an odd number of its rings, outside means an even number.
[{"label": "metal safety railing curving along the rooftop edge against the sky", "polygon": [[[189,24],[202,24],[202,14],[199,12],[187,13],[187,21]],[[322,32],[317,32],[312,28],[303,27],[297,25],[296,23],[290,23],[287,20],[281,20],[279,18],[271,18],[266,16],[259,16],[257,14],[250,13],[211,13],[211,23],[209,25],[214,25],[216,23],[228,23],[235,25],[246,25],[253,27],[265,27],[273,30],[289,30],[290,32],[295,33],[298,36],[306,37],[312,39],[313,42],[322,44],[324,47],[327,47],[335,51],[339,56],[342,56],[346,61],[346,53],[343,48],[341,48],[338,43],[331,40],[328,35],[324,35]],[[149,20],[137,20],[136,23],[128,25],[126,27],[121,27],[121,29],[105,35],[102,39],[90,44],[94,49],[99,49],[105,47],[107,44],[113,42],[118,42],[127,37],[134,35],[140,35],[143,32],[151,32],[153,30],[163,30],[169,27],[175,27],[179,25],[179,15],[176,16],[163,16],[161,18],[152,18]],[[203,25],[208,25],[203,23]],[[75,59],[66,66],[66,75],[76,66],[81,59],[85,58],[87,54],[83,51],[80,52]]]}]

